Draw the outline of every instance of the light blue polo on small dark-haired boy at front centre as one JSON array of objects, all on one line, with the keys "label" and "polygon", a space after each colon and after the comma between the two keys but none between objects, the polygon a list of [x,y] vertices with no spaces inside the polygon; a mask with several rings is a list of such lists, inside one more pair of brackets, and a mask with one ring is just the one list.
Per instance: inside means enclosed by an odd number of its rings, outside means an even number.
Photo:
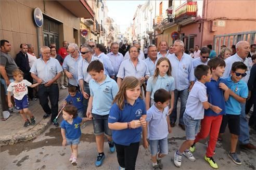
[{"label": "light blue polo on small dark-haired boy at front centre", "polygon": [[168,136],[167,116],[168,107],[160,111],[155,104],[153,104],[147,111],[146,121],[148,122],[148,139],[161,140]]}]

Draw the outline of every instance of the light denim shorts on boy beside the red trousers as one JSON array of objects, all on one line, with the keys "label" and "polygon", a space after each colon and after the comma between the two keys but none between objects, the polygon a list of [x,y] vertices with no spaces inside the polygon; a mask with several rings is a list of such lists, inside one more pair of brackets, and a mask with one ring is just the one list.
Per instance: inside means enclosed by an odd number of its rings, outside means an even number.
[{"label": "light denim shorts on boy beside the red trousers", "polygon": [[196,134],[199,131],[201,120],[194,120],[193,117],[187,115],[184,112],[183,121],[184,121],[185,131],[186,131],[186,139],[195,140]]}]

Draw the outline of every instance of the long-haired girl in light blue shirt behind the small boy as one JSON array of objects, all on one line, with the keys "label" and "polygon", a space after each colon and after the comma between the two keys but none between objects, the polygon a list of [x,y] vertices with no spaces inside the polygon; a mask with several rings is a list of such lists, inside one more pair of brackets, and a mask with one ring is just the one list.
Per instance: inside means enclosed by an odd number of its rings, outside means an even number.
[{"label": "long-haired girl in light blue shirt behind the small boy", "polygon": [[171,63],[166,57],[161,57],[157,61],[155,73],[148,79],[146,88],[146,110],[153,105],[153,95],[160,88],[170,91],[172,98],[169,113],[171,113],[174,106],[174,78],[172,77]]}]

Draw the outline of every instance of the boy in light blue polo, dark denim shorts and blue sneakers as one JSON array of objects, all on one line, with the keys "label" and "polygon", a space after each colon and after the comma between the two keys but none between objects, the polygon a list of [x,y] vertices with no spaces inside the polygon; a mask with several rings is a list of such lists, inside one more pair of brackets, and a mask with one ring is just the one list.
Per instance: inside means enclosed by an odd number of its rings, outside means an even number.
[{"label": "boy in light blue polo, dark denim shorts and blue sneakers", "polygon": [[86,115],[87,117],[93,116],[93,128],[98,150],[95,166],[100,166],[105,159],[103,152],[104,134],[108,138],[110,152],[115,151],[111,137],[112,132],[108,127],[108,116],[113,99],[118,93],[118,85],[116,81],[104,74],[103,63],[99,60],[92,61],[87,68],[87,72],[92,76],[92,80],[89,81],[91,96],[89,97]]}]

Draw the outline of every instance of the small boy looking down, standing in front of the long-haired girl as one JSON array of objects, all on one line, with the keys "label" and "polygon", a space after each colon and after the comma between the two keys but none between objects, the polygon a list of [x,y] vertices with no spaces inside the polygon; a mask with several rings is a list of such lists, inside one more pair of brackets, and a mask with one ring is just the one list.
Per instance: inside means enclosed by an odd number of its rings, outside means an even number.
[{"label": "small boy looking down, standing in front of the long-haired girl", "polygon": [[[171,133],[169,108],[171,94],[163,89],[158,89],[154,94],[155,103],[147,111],[148,139],[150,142],[151,161],[153,169],[162,169],[161,158],[168,154],[168,134]],[[146,135],[146,133],[145,133]],[[144,138],[144,147],[148,142]]]}]

